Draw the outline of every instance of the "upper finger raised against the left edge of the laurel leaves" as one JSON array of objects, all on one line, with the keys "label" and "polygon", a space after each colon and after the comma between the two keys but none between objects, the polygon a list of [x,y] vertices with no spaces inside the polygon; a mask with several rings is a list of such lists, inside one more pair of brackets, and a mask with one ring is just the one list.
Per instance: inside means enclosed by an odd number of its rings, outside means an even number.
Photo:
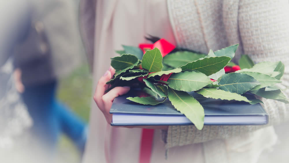
[{"label": "upper finger raised against the left edge of the laurel leaves", "polygon": [[102,102],[102,96],[105,93],[105,90],[107,89],[108,85],[106,82],[108,82],[112,77],[112,74],[110,71],[106,71],[104,75],[99,79],[95,93],[93,96],[93,99],[95,100],[97,106],[101,109],[104,107],[103,102]]}]

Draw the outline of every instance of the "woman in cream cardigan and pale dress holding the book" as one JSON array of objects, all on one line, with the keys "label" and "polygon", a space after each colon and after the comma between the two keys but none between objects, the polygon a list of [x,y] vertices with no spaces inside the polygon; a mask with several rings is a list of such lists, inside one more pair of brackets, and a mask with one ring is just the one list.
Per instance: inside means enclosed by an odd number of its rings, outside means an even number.
[{"label": "woman in cream cardigan and pale dress holding the book", "polygon": [[[288,8],[288,0],[81,0],[81,34],[96,88],[83,162],[142,162],[142,129],[111,127],[105,120],[111,119],[108,111],[113,99],[129,91],[116,87],[105,94],[105,83],[114,74],[110,57],[118,55],[114,50],[144,43],[147,34],[202,53],[239,43],[234,62],[240,54],[248,54],[255,63],[285,64],[283,89],[289,86]],[[289,90],[284,93],[288,95]],[[147,151],[151,153],[148,162],[257,162],[260,153],[277,141],[272,125],[289,117],[288,104],[263,102],[270,119],[265,126],[153,127],[156,132]]]}]

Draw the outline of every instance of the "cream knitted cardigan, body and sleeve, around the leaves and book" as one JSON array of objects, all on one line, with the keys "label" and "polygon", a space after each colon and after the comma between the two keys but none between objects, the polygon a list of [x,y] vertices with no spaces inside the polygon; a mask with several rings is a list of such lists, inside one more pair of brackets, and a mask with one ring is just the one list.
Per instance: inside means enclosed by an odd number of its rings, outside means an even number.
[{"label": "cream knitted cardigan, body and sleeve, around the leaves and book", "polygon": [[[248,54],[255,63],[282,61],[282,88],[289,86],[288,0],[168,0],[168,11],[179,47],[208,53],[240,43],[235,60]],[[284,91],[288,96],[289,91]],[[289,107],[263,99],[269,124],[288,120]],[[256,131],[264,126],[170,126],[166,147],[226,139]]]}]

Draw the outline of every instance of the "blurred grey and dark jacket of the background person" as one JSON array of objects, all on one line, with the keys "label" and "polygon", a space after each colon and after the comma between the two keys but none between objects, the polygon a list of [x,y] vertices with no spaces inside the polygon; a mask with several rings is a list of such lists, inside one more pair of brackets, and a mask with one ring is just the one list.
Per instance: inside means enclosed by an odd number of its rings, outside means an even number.
[{"label": "blurred grey and dark jacket of the background person", "polygon": [[56,80],[69,74],[82,53],[74,2],[30,0],[32,14],[26,38],[14,48],[15,67],[24,85]]}]

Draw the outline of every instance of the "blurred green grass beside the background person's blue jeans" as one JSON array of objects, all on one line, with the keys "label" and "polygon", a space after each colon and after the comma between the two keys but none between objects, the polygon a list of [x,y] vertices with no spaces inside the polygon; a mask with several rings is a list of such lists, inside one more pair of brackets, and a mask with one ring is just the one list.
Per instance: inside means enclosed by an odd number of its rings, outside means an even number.
[{"label": "blurred green grass beside the background person's blue jeans", "polygon": [[[60,80],[58,99],[64,102],[77,116],[88,122],[92,100],[92,78],[87,64],[75,69]],[[56,162],[78,163],[80,155],[71,140],[62,135],[58,144]]]}]

